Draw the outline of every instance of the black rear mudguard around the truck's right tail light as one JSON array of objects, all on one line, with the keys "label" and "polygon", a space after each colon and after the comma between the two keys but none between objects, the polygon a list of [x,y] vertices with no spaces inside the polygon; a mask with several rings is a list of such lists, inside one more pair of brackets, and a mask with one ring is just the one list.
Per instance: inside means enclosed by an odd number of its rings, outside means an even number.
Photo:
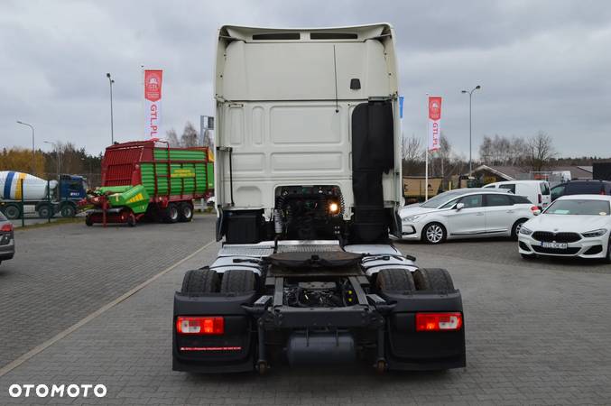
[{"label": "black rear mudguard around the truck's right tail light", "polygon": [[[384,294],[394,303],[386,323],[386,357],[391,370],[445,370],[466,366],[465,323],[460,291],[449,294],[414,292]],[[416,331],[418,312],[459,312],[462,328],[457,331]]]}]

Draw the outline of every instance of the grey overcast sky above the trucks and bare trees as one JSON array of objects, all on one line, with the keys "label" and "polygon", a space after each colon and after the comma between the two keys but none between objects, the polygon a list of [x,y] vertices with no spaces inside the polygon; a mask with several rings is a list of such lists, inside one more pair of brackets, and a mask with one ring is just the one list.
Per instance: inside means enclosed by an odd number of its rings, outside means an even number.
[{"label": "grey overcast sky above the trucks and bare trees", "polygon": [[404,134],[424,136],[427,92],[444,97],[444,134],[468,155],[485,134],[542,130],[562,155],[611,156],[611,3],[608,1],[3,1],[0,147],[141,139],[141,69],[164,69],[163,130],[213,115],[218,26],[338,26],[396,30]]}]

